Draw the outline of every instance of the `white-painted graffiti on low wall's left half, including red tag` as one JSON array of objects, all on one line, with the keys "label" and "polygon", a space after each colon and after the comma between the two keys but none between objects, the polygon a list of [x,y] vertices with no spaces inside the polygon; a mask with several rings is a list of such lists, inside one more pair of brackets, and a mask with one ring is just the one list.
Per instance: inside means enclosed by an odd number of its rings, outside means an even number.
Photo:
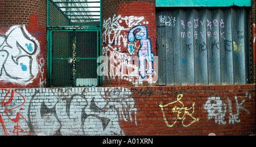
[{"label": "white-painted graffiti on low wall's left half, including red tag", "polygon": [[129,89],[96,88],[95,96],[95,88],[76,89],[47,89],[48,96],[43,94],[46,89],[31,89],[26,97],[0,89],[5,93],[0,97],[0,135],[125,135],[119,122],[137,126],[134,99],[119,94]]}]

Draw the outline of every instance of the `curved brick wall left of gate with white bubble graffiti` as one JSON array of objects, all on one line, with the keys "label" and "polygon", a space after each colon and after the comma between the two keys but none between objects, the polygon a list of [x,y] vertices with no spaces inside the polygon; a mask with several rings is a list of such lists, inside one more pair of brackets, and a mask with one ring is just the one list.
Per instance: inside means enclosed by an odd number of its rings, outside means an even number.
[{"label": "curved brick wall left of gate with white bubble graffiti", "polygon": [[46,85],[47,1],[0,1],[1,88]]}]

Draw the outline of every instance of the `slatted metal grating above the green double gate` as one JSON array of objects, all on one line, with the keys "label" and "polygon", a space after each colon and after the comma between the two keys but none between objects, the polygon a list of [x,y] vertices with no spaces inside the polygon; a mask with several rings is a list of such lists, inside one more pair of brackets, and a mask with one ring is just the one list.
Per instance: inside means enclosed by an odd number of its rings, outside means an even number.
[{"label": "slatted metal grating above the green double gate", "polygon": [[[67,26],[67,24],[54,25],[54,21],[67,20],[68,25],[100,26],[101,1],[100,0],[49,0],[49,26]],[[52,21],[51,21],[52,19]]]}]

